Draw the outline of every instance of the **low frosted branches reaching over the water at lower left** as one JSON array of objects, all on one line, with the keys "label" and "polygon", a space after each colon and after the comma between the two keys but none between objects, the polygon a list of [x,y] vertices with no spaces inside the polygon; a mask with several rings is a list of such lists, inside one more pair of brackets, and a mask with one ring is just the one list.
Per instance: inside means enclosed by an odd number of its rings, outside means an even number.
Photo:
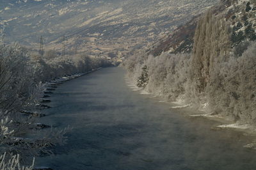
[{"label": "low frosted branches reaching over the water at lower left", "polygon": [[[28,135],[33,127],[33,121],[19,114],[0,111],[0,155],[6,154],[10,158],[19,154],[23,160],[29,156],[38,156],[41,153],[51,153],[51,146],[64,144],[66,141],[64,130],[51,130]],[[27,134],[29,137],[24,137]]]}]

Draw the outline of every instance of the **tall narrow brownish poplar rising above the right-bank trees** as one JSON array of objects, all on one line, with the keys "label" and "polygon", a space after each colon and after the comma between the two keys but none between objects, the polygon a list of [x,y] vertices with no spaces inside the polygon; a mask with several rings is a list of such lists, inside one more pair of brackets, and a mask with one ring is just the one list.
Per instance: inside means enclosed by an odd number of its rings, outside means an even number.
[{"label": "tall narrow brownish poplar rising above the right-bank trees", "polygon": [[189,81],[193,93],[204,97],[205,88],[211,81],[216,65],[227,59],[230,51],[230,34],[225,20],[214,17],[211,11],[197,24]]}]

